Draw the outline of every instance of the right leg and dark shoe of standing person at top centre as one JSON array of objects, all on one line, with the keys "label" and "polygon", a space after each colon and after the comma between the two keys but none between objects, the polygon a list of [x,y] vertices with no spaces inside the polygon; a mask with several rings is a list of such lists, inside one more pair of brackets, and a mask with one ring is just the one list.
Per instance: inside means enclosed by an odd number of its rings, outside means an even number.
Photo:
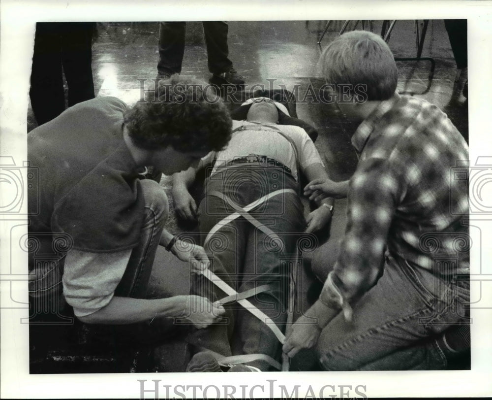
[{"label": "right leg and dark shoe of standing person at top centre", "polygon": [[215,77],[225,80],[232,85],[244,85],[242,76],[232,67],[229,60],[229,46],[227,45],[227,34],[229,26],[224,21],[204,21],[203,34],[207,46],[209,71]]}]

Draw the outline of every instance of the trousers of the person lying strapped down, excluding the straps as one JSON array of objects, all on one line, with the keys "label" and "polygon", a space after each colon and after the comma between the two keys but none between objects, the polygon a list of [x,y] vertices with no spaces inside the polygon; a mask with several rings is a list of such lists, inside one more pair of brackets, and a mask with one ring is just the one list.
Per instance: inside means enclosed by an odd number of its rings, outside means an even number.
[{"label": "trousers of the person lying strapped down, excluding the straps", "polygon": [[[295,190],[297,183],[284,174],[281,168],[238,165],[219,168],[207,181],[206,194],[211,191],[221,192],[244,207],[282,188]],[[199,206],[200,231],[209,232],[218,221],[234,212],[227,201],[211,195],[205,196]],[[303,207],[299,196],[289,192],[258,204],[249,214],[276,233],[277,238],[239,217],[216,231],[205,249],[212,254],[211,269],[239,293],[260,285],[273,286],[272,290],[248,300],[283,331],[289,273],[285,260],[295,257],[297,239],[305,229]],[[192,283],[192,291],[213,301],[225,297],[222,291],[201,275],[196,276]],[[226,310],[227,324],[196,330],[189,335],[188,342],[198,349],[209,349],[223,356],[260,353],[279,358],[281,344],[264,322],[237,303],[226,307]],[[248,364],[262,370],[268,369],[264,361]]]}]

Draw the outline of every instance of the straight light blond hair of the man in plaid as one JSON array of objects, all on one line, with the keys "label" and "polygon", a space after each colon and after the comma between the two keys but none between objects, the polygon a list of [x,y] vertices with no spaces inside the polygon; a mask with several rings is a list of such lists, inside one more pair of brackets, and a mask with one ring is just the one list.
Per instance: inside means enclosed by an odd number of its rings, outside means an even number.
[{"label": "straight light blond hair of the man in plaid", "polygon": [[338,36],[321,54],[319,66],[329,84],[350,85],[352,94],[360,94],[363,87],[365,100],[387,100],[397,88],[395,59],[375,33],[352,31]]}]

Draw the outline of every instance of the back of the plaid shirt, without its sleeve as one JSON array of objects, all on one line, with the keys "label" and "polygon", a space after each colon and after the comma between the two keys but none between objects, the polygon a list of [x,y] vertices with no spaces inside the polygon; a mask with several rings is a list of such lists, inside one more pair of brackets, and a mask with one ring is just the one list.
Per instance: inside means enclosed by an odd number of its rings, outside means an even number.
[{"label": "back of the plaid shirt, without its sleeve", "polygon": [[[360,152],[357,179],[363,180],[366,169],[377,167],[377,178],[371,174],[368,183],[377,185],[384,180],[384,189],[395,196],[395,210],[390,209],[393,204],[387,209],[388,217],[390,212],[393,214],[386,243],[392,257],[401,264],[411,262],[433,273],[456,273],[433,269],[433,254],[422,240],[468,232],[461,224],[468,210],[466,191],[461,188],[450,196],[450,168],[457,161],[467,160],[466,142],[446,114],[426,100],[399,96],[388,107],[382,116],[376,109],[354,134],[353,143]],[[366,136],[368,127],[372,131]],[[381,199],[376,203],[378,212],[384,212]],[[447,239],[440,240],[440,251],[453,253],[453,243]],[[467,270],[468,253],[458,256],[457,267]]]}]

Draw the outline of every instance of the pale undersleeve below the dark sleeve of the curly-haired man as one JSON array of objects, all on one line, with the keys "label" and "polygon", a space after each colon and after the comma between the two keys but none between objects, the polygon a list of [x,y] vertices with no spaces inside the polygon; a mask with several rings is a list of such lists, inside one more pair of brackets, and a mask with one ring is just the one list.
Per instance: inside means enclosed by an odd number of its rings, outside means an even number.
[{"label": "pale undersleeve below the dark sleeve of the curly-haired man", "polygon": [[131,249],[116,253],[70,250],[63,270],[63,294],[75,316],[84,317],[106,306],[114,297],[128,265]]}]

